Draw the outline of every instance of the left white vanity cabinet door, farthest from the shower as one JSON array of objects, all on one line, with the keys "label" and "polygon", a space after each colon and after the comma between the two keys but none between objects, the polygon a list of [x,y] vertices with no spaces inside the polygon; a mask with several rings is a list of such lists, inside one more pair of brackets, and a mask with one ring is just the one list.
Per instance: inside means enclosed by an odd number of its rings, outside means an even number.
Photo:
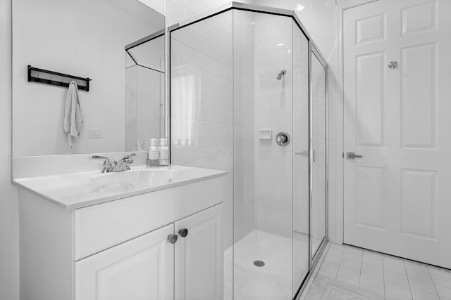
[{"label": "left white vanity cabinet door, farthest from the shower", "polygon": [[173,223],[75,262],[75,300],[173,299]]}]

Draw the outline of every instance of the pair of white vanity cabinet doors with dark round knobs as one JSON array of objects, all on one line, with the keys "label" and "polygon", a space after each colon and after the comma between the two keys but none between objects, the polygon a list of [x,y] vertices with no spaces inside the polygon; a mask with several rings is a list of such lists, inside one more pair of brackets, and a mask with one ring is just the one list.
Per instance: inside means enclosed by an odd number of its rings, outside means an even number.
[{"label": "pair of white vanity cabinet doors with dark round knobs", "polygon": [[75,300],[222,299],[221,207],[75,262]]}]

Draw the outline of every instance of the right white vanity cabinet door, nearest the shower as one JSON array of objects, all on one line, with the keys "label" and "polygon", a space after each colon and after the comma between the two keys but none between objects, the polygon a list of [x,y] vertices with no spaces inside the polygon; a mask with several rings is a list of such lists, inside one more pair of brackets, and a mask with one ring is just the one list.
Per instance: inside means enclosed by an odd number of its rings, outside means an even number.
[{"label": "right white vanity cabinet door, nearest the shower", "polygon": [[[223,299],[223,204],[175,222],[175,299]],[[187,229],[186,237],[180,230]]]}]

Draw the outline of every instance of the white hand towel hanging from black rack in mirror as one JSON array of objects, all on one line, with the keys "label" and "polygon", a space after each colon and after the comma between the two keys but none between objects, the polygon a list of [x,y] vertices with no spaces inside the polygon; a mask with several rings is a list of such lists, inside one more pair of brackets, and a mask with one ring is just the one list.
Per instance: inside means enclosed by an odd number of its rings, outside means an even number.
[{"label": "white hand towel hanging from black rack in mirror", "polygon": [[75,81],[70,81],[66,96],[66,110],[64,111],[64,132],[68,133],[70,148],[73,148],[73,140],[78,141],[83,122],[85,119],[78,98],[78,86]]}]

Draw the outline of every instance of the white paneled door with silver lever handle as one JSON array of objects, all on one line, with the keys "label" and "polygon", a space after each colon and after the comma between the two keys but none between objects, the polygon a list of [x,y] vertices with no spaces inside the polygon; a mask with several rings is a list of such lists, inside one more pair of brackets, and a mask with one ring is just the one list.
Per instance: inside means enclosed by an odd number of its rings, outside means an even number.
[{"label": "white paneled door with silver lever handle", "polygon": [[446,268],[450,11],[449,0],[379,0],[343,21],[345,243]]}]

